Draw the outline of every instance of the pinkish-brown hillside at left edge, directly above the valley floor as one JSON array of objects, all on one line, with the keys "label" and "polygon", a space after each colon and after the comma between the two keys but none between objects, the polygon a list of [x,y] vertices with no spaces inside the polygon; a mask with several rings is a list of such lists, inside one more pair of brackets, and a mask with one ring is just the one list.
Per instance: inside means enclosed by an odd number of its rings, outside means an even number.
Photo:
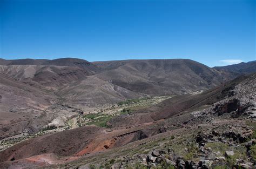
[{"label": "pinkish-brown hillside at left edge, directly above the valley floor", "polygon": [[0,138],[41,129],[55,116],[48,114],[55,103],[50,93],[0,73]]}]

